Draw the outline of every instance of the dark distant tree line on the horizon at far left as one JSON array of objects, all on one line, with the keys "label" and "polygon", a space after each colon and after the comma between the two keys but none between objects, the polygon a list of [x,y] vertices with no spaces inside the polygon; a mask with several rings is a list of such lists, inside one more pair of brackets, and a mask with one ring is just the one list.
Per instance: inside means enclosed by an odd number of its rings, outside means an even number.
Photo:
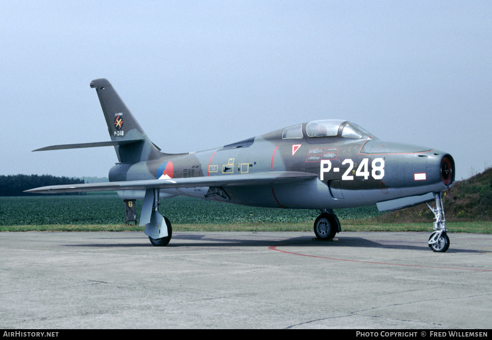
[{"label": "dark distant tree line on the horizon at far left", "polygon": [[[0,175],[0,196],[27,196],[35,193],[23,192],[39,186],[83,184],[78,178],[56,177],[52,175]],[[75,193],[79,194],[79,193]]]}]

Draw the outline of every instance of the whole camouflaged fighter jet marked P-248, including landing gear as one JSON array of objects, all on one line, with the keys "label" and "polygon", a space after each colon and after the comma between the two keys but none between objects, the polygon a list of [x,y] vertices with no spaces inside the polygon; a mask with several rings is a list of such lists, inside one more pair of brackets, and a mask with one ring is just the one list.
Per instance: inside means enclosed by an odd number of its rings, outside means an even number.
[{"label": "whole camouflaged fighter jet marked P-248, including landing gear", "polygon": [[454,182],[455,163],[445,152],[383,142],[343,120],[288,126],[200,152],[166,154],[151,142],[106,79],[91,82],[111,141],[55,145],[58,150],[113,146],[119,163],[109,183],[53,185],[40,193],[117,190],[125,202],[142,199],[140,226],[154,246],[166,246],[170,221],[159,200],[177,195],[219,202],[284,209],[317,209],[314,233],[328,240],[341,231],[336,208],[377,205],[398,210],[435,201],[429,238],[433,251],[449,247],[442,192]]}]

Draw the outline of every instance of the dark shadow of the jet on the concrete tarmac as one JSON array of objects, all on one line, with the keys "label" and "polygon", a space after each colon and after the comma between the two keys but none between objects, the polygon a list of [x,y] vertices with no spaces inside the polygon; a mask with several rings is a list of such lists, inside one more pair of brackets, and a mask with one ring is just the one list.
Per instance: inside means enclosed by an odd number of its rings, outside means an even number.
[{"label": "dark shadow of the jet on the concrete tarmac", "polygon": [[[110,239],[110,238],[101,238]],[[129,238],[123,238],[124,240]],[[142,239],[141,237],[131,237],[131,239]],[[398,244],[397,241],[384,241],[383,243],[374,242],[363,237],[337,237],[338,241],[320,241],[311,236],[293,237],[290,239],[284,239],[281,241],[276,240],[248,240],[237,238],[211,238],[206,234],[175,234],[173,235],[173,242],[169,243],[166,248],[173,247],[272,247],[272,246],[288,246],[288,247],[353,247],[353,248],[384,248],[384,249],[401,249],[401,250],[421,250],[430,251],[425,240],[420,241],[401,241]],[[114,240],[114,239],[113,239]],[[177,242],[178,240],[186,240],[188,242]],[[189,242],[196,241],[196,242]],[[411,244],[409,244],[411,243]],[[78,245],[63,245],[66,247],[149,247],[154,248],[151,244],[147,243],[91,243],[91,244],[78,244]],[[158,247],[156,249],[165,250],[165,248]],[[472,249],[456,249],[453,248],[448,252],[456,253],[474,253],[484,252],[481,250]]]}]

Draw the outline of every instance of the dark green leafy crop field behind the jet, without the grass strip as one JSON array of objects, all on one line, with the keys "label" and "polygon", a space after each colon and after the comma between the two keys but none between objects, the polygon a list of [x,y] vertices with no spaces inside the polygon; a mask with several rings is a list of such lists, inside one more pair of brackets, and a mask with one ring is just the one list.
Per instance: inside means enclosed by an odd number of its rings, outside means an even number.
[{"label": "dark green leafy crop field behind the jet, without the grass strip", "polygon": [[[137,200],[137,220],[141,200]],[[316,210],[238,206],[188,197],[161,200],[159,212],[173,224],[312,222]],[[377,216],[376,207],[338,209],[340,219]],[[0,197],[0,225],[120,224],[123,200],[116,194]]]}]

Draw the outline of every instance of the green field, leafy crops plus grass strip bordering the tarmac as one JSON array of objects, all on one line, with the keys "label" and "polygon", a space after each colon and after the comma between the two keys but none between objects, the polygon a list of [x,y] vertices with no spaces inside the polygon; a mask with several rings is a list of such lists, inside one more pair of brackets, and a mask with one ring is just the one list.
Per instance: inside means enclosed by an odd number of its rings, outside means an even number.
[{"label": "green field, leafy crops plus grass strip bordering the tarmac", "polygon": [[[137,201],[139,219],[142,201]],[[161,201],[159,211],[174,231],[309,231],[316,210],[237,206],[187,197]],[[335,210],[344,231],[431,231],[425,223],[384,223],[376,207]],[[491,233],[490,221],[447,222],[450,232]],[[0,231],[141,231],[124,224],[123,201],[116,194],[0,197]]]}]

